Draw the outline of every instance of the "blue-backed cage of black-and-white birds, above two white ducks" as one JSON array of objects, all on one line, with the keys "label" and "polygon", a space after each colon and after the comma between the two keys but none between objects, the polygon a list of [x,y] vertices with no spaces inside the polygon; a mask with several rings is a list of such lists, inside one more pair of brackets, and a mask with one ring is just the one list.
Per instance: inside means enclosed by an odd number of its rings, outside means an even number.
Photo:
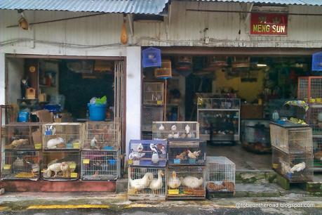
[{"label": "blue-backed cage of black-and-white birds, above two white ducks", "polygon": [[130,140],[128,164],[143,167],[166,167],[167,141]]}]

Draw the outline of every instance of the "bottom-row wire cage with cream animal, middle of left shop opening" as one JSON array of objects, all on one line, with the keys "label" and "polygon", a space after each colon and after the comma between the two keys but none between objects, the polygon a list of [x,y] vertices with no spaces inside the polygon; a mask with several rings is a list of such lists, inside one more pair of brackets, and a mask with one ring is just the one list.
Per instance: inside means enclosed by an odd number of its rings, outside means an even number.
[{"label": "bottom-row wire cage with cream animal, middle of left shop opening", "polygon": [[43,180],[75,181],[79,178],[79,151],[44,151],[41,163]]}]

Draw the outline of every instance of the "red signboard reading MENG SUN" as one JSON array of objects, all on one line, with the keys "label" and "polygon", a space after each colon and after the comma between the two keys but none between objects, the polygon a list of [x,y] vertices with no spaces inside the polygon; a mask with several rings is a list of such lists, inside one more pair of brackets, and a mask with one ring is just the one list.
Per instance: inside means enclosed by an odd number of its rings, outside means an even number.
[{"label": "red signboard reading MENG SUN", "polygon": [[250,34],[287,35],[288,15],[278,13],[251,13]]}]

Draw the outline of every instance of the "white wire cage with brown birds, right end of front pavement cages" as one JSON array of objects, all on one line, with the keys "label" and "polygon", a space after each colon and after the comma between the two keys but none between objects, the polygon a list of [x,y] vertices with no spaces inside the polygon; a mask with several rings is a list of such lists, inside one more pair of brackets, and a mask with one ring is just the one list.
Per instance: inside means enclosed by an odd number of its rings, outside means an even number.
[{"label": "white wire cage with brown birds, right end of front pavement cages", "polygon": [[209,193],[234,193],[235,164],[227,157],[207,157],[206,188]]}]

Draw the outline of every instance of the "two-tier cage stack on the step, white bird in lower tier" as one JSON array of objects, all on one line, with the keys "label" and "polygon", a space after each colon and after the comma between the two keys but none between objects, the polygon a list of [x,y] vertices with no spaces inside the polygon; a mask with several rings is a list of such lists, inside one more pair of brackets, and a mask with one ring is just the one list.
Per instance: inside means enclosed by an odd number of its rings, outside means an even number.
[{"label": "two-tier cage stack on the step, white bird in lower tier", "polygon": [[270,124],[272,167],[290,183],[313,178],[311,127],[301,124]]}]

